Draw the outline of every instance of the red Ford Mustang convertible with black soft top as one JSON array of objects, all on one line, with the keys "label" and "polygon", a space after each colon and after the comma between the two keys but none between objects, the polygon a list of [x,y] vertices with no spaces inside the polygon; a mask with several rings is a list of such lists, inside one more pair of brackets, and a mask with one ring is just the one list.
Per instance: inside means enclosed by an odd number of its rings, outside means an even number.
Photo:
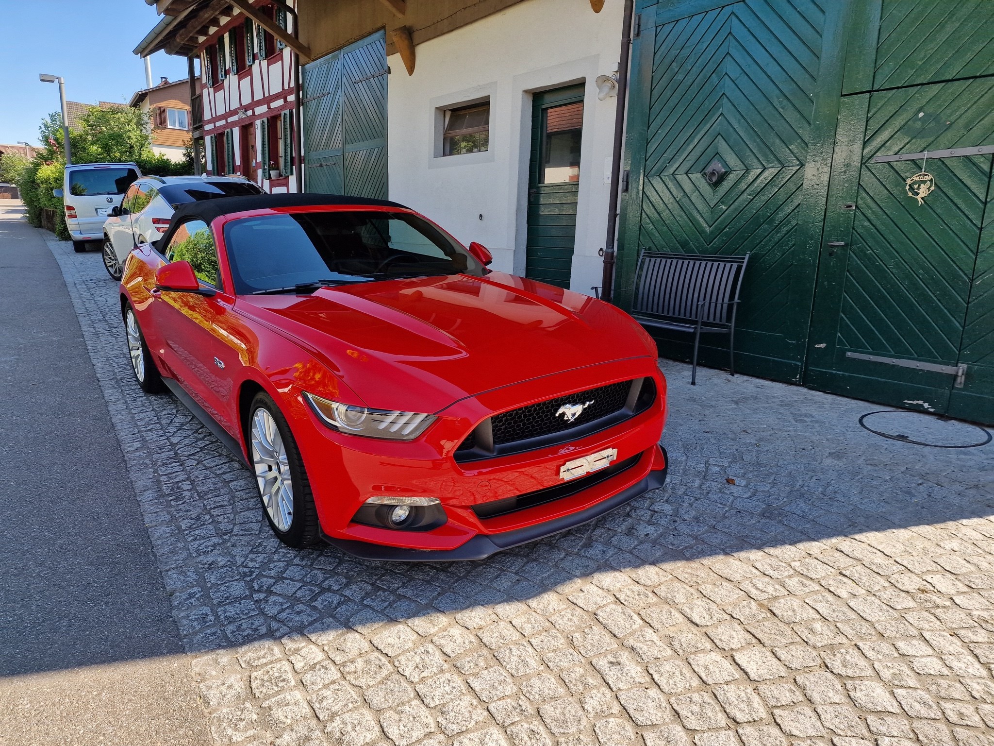
[{"label": "red Ford Mustang convertible with black soft top", "polygon": [[254,471],[289,546],[480,559],[661,486],[667,466],[652,338],[489,263],[392,202],[191,203],[127,258],[131,365]]}]

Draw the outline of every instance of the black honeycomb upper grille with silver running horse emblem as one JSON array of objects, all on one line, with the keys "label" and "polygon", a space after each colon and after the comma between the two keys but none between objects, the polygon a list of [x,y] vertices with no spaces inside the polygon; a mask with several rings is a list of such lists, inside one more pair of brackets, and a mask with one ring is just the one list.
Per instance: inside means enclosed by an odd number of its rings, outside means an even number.
[{"label": "black honeycomb upper grille with silver running horse emblem", "polygon": [[[655,382],[646,377],[502,412],[484,420],[463,440],[455,460],[477,461],[569,443],[644,412],[655,399]],[[576,414],[572,422],[570,414]]]}]

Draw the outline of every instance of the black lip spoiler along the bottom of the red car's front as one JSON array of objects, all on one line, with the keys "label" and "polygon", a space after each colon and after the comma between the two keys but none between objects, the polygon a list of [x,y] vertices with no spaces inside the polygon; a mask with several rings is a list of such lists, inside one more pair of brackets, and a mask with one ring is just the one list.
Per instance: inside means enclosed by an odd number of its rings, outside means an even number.
[{"label": "black lip spoiler along the bottom of the red car's front", "polygon": [[383,544],[371,544],[366,541],[353,541],[349,539],[337,539],[322,532],[322,538],[332,546],[342,551],[368,560],[388,560],[393,562],[454,562],[466,560],[486,559],[492,554],[510,549],[511,547],[527,544],[532,541],[544,539],[571,528],[576,528],[583,523],[599,518],[601,515],[610,512],[616,507],[631,502],[636,497],[640,497],[650,489],[657,489],[666,482],[666,474],[669,470],[669,456],[666,450],[660,447],[664,465],[660,469],[652,469],[641,480],[632,484],[620,492],[607,497],[584,510],[560,516],[545,523],[536,523],[524,528],[503,533],[477,534],[465,544],[455,549],[449,550],[429,550],[429,549],[407,549],[404,547],[385,546]]}]

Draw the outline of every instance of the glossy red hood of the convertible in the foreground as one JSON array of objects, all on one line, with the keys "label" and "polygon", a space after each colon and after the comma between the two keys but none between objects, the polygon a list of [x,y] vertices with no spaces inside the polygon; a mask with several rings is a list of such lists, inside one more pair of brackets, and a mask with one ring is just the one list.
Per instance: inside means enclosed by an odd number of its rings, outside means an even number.
[{"label": "glossy red hood of the convertible in the foreground", "polygon": [[367,406],[380,409],[437,412],[509,384],[655,354],[648,335],[618,308],[502,273],[239,302],[302,342]]}]

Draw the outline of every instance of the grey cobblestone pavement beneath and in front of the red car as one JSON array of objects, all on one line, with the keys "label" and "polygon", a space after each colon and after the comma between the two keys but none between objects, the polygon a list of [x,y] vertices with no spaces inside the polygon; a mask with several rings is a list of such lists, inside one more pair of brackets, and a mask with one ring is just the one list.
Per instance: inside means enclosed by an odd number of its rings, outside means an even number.
[{"label": "grey cobblestone pavement beneath and in front of the red car", "polygon": [[219,743],[994,744],[994,447],[664,361],[662,490],[484,562],[295,552],[248,472],[132,381],[99,256],[50,246]]}]

